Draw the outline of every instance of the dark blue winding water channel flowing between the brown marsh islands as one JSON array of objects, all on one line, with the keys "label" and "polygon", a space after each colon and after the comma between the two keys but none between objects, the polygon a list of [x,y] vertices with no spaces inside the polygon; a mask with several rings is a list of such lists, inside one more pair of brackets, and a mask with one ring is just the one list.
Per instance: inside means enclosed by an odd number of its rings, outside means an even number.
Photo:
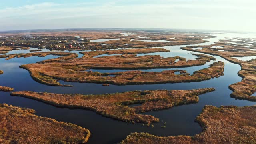
[{"label": "dark blue winding water channel flowing between the brown marsh islands", "polygon": [[[207,39],[210,40],[208,43],[199,45],[209,45],[218,39],[224,39],[225,37],[242,37],[241,34],[214,34],[217,38]],[[170,50],[170,52],[159,52],[152,54],[159,54],[163,57],[180,56],[187,59],[194,59],[196,52],[190,52],[180,49],[180,47],[190,46],[164,46]],[[34,49],[34,48],[31,48]],[[30,50],[31,50],[30,49]],[[48,50],[42,50],[48,51]],[[12,53],[27,53],[29,50],[13,50],[8,54]],[[72,51],[78,53],[78,51]],[[138,54],[142,56],[146,54]],[[147,54],[148,55],[148,54]],[[82,54],[79,54],[81,57]],[[188,90],[196,88],[215,88],[216,91],[199,96],[199,102],[196,104],[189,104],[183,106],[177,106],[167,110],[146,112],[144,114],[150,114],[160,119],[160,122],[154,123],[154,128],[142,126],[142,124],[127,124],[111,118],[106,118],[96,114],[90,110],[83,109],[70,109],[70,108],[59,108],[51,106],[43,102],[36,100],[10,96],[10,92],[0,92],[0,103],[12,104],[14,106],[21,106],[26,108],[32,108],[36,110],[36,115],[44,116],[48,118],[54,118],[58,121],[70,122],[77,124],[84,128],[88,128],[92,133],[88,144],[96,143],[116,143],[120,142],[131,132],[148,132],[157,136],[176,136],[176,135],[189,135],[198,134],[202,132],[202,128],[196,122],[194,122],[196,116],[200,114],[202,108],[205,105],[221,106],[221,105],[236,105],[236,106],[250,106],[255,105],[255,102],[249,102],[247,100],[236,100],[230,98],[231,90],[228,89],[228,85],[241,81],[241,77],[237,75],[237,72],[241,69],[238,64],[233,64],[214,56],[217,61],[220,60],[225,63],[224,76],[214,78],[202,82],[190,82],[190,83],[176,83],[176,84],[150,84],[150,85],[127,85],[127,86],[115,86],[110,85],[109,87],[102,86],[102,84],[88,84],[88,83],[71,83],[63,82],[62,84],[71,84],[73,87],[54,87],[40,84],[30,77],[27,70],[20,69],[19,66],[22,64],[35,63],[38,61],[56,58],[58,56],[46,56],[46,57],[28,57],[28,58],[13,58],[10,60],[4,60],[0,58],[0,70],[4,71],[4,74],[0,75],[0,85],[9,86],[14,88],[14,91],[29,90],[35,92],[52,92],[52,93],[80,93],[80,94],[103,94],[103,93],[114,93],[114,92],[126,92],[133,90],[156,90],[156,89],[167,89],[167,90]],[[194,66],[189,68],[169,68],[169,69],[151,69],[143,71],[156,71],[160,72],[163,70],[181,69],[186,70],[192,74],[195,70],[207,68],[212,62],[206,63],[204,66]],[[98,72],[118,72],[125,70],[93,70]],[[161,128],[166,122],[166,128]]]}]

